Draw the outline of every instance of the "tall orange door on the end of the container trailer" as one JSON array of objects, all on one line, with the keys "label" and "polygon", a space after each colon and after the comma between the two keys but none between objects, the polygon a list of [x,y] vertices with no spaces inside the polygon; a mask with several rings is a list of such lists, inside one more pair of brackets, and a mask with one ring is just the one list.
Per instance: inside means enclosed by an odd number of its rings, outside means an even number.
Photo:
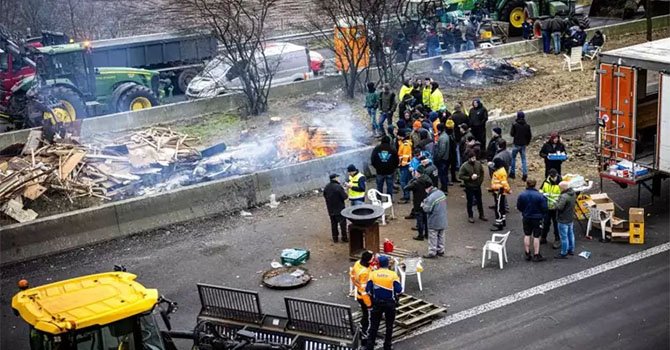
[{"label": "tall orange door on the end of the container trailer", "polygon": [[600,65],[598,116],[602,155],[612,160],[632,161],[635,155],[636,70]]}]

